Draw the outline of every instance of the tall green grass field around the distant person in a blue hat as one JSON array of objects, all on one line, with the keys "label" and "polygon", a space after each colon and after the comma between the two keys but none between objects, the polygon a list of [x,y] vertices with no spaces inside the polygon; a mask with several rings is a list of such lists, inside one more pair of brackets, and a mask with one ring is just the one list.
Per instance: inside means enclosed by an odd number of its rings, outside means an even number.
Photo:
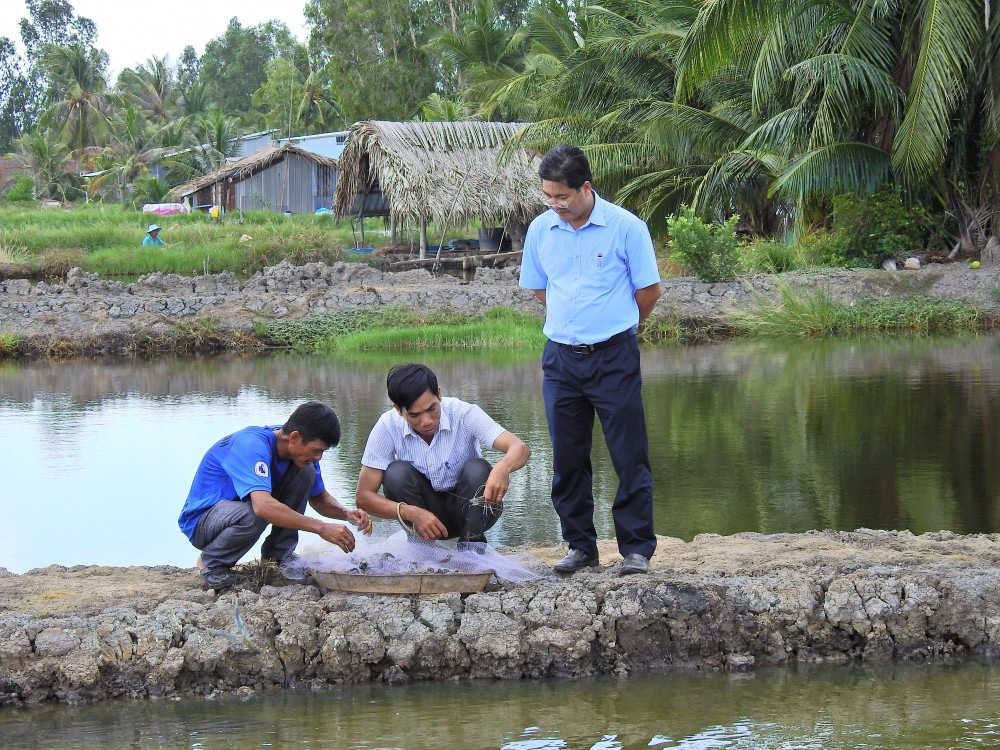
[{"label": "tall green grass field around the distant person in a blue hat", "polygon": [[[166,247],[142,247],[146,227],[164,227]],[[365,221],[365,241],[388,241],[381,219]],[[458,234],[465,236],[462,228]],[[244,235],[249,239],[243,239]],[[433,237],[437,237],[432,232]],[[433,240],[437,242],[437,239]],[[252,273],[288,259],[293,263],[343,260],[360,235],[344,220],[329,215],[284,216],[265,211],[236,213],[221,221],[196,212],[153,216],[117,205],[89,204],[43,210],[23,205],[0,206],[0,263],[24,263],[59,273],[67,258],[102,276],[137,276],[152,271],[180,274],[234,271]]]}]

